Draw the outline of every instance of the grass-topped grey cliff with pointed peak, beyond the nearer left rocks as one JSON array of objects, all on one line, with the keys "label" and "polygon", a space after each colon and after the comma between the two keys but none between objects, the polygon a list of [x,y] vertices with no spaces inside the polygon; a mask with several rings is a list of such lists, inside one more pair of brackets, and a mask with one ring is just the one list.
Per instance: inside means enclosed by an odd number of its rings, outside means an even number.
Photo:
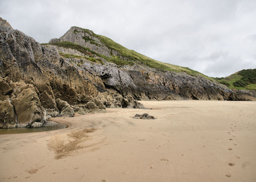
[{"label": "grass-topped grey cliff with pointed peak, beyond the nearer left rocks", "polygon": [[253,91],[232,91],[199,72],[157,62],[84,28],[71,27],[45,45],[56,48],[78,69],[92,73],[94,76],[89,79],[98,90],[114,89],[137,100],[256,99]]}]

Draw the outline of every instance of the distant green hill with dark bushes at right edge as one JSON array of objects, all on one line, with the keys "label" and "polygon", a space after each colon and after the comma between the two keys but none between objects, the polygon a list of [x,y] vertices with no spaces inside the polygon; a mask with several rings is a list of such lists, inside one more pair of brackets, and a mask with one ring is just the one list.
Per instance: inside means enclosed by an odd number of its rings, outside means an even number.
[{"label": "distant green hill with dark bushes at right edge", "polygon": [[225,78],[214,78],[234,90],[256,90],[256,69],[241,70]]}]

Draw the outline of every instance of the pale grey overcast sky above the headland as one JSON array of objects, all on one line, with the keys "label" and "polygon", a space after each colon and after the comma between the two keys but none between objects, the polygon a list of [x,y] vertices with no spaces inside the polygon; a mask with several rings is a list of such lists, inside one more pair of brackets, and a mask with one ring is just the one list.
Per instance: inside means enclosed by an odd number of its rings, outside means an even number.
[{"label": "pale grey overcast sky above the headland", "polygon": [[256,0],[0,0],[0,17],[40,43],[79,26],[207,76],[256,68]]}]

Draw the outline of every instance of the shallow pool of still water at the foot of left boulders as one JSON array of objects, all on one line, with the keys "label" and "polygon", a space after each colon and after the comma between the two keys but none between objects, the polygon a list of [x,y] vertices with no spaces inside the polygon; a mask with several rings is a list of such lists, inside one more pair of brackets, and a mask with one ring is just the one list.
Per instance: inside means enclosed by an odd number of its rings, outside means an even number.
[{"label": "shallow pool of still water at the foot of left boulders", "polygon": [[50,130],[60,130],[63,128],[68,128],[68,125],[54,122],[54,121],[48,121],[46,124],[44,124],[44,126],[39,127],[39,128],[9,128],[9,129],[0,128],[0,135],[1,134],[46,132],[46,131],[50,131]]}]

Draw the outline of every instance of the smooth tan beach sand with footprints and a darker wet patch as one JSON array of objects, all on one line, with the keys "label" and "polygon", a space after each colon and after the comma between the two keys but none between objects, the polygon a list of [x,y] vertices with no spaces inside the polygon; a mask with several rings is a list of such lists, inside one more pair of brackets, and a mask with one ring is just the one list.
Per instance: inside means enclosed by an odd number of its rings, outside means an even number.
[{"label": "smooth tan beach sand with footprints and a darker wet patch", "polygon": [[[0,181],[256,181],[256,102],[142,103],[0,135]],[[145,112],[157,119],[133,119]]]}]

